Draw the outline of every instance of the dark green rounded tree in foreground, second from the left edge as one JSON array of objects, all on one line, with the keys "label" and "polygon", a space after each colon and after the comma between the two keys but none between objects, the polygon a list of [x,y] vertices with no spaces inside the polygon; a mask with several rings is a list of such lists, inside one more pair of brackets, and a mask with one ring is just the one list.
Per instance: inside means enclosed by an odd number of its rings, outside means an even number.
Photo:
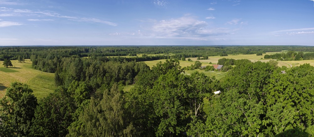
[{"label": "dark green rounded tree in foreground, second from the left edge", "polygon": [[73,122],[75,111],[73,99],[65,89],[57,89],[39,101],[31,127],[32,136],[65,136],[67,127]]}]

